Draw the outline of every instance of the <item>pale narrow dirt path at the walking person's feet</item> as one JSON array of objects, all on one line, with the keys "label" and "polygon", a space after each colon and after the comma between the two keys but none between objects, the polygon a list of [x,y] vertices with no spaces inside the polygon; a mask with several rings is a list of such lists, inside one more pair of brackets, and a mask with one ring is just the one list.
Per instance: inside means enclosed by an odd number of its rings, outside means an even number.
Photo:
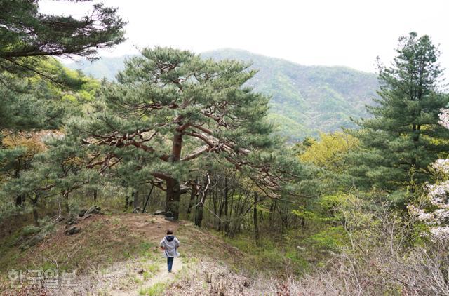
[{"label": "pale narrow dirt path at the walking person's feet", "polygon": [[[159,266],[159,271],[152,276],[152,278],[148,278],[147,281],[142,283],[137,289],[135,290],[128,290],[128,291],[111,291],[110,295],[112,296],[131,296],[131,295],[146,295],[145,291],[152,288],[154,285],[159,283],[170,283],[175,279],[176,274],[179,274],[182,270],[183,264],[182,264],[182,258],[175,258],[175,262],[173,262],[173,269],[172,272],[168,272],[167,270],[167,264],[161,263]],[[143,292],[142,294],[140,292]]]}]

